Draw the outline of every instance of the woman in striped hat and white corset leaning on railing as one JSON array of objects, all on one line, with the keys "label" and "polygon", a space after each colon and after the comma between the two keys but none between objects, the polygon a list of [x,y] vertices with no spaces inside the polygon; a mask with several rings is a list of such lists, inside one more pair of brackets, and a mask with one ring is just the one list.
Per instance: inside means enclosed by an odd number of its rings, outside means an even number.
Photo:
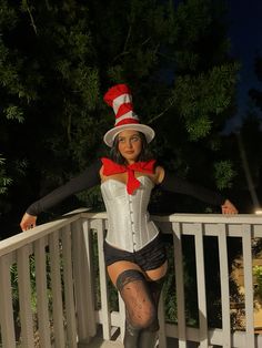
[{"label": "woman in striped hat and white corset leaning on railing", "polygon": [[[234,205],[220,194],[189,184],[157,165],[148,152],[154,131],[139,122],[125,84],[111,88],[104,101],[115,113],[114,127],[104,135],[111,147],[103,157],[64,186],[30,205],[21,228],[36,226],[42,211],[67,196],[101,182],[109,227],[104,240],[107,269],[127,309],[125,348],[154,347],[158,303],[168,263],[157,226],[150,221],[148,204],[155,185],[220,205],[223,214],[236,214]],[[99,174],[99,175],[98,175]]]}]

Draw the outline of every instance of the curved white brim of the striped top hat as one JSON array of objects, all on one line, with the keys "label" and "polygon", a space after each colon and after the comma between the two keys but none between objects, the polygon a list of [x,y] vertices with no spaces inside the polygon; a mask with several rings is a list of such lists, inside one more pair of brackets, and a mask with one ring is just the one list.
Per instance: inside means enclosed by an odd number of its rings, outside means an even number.
[{"label": "curved white brim of the striped top hat", "polygon": [[113,141],[115,139],[115,136],[125,130],[134,130],[138,132],[141,132],[145,135],[147,142],[150,143],[153,139],[154,139],[154,130],[151,129],[149,125],[145,124],[140,124],[140,123],[133,123],[133,124],[122,124],[122,125],[118,125],[114,129],[109,130],[104,136],[103,136],[103,141],[104,143],[109,146],[112,147],[113,146]]}]

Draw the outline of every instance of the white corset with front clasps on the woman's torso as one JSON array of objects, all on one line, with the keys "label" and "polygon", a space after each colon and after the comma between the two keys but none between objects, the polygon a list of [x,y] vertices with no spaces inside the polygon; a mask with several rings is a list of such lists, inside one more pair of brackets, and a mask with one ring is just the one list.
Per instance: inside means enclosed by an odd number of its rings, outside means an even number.
[{"label": "white corset with front clasps on the woman's torso", "polygon": [[159,234],[148,213],[154,184],[148,176],[138,180],[141,185],[132,195],[128,194],[127,185],[120,181],[108,178],[101,184],[109,222],[105,240],[131,253],[144,247]]}]

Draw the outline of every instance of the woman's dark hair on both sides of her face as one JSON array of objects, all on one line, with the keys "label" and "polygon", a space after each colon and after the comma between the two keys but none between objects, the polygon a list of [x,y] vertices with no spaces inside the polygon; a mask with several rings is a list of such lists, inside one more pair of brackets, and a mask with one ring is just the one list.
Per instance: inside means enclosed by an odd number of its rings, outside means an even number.
[{"label": "woman's dark hair on both sides of her face", "polygon": [[[141,152],[138,156],[138,161],[147,162],[149,160],[152,160],[152,154],[149,150],[149,144],[147,142],[145,135],[139,132],[139,136],[141,139],[142,146]],[[110,150],[109,157],[118,164],[125,164],[125,158],[119,152],[119,135],[117,135],[113,141],[113,146]]]}]

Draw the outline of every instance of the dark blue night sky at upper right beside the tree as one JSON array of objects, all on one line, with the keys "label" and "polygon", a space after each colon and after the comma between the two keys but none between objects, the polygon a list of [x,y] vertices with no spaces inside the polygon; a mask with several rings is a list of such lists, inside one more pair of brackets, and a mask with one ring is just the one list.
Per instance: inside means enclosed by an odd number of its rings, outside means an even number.
[{"label": "dark blue night sky at upper right beside the tree", "polygon": [[[240,124],[248,110],[251,88],[262,90],[262,83],[254,73],[254,57],[262,55],[262,0],[229,0],[231,53],[241,61],[239,75],[239,111],[231,125]],[[258,111],[258,113],[260,113]]]}]

